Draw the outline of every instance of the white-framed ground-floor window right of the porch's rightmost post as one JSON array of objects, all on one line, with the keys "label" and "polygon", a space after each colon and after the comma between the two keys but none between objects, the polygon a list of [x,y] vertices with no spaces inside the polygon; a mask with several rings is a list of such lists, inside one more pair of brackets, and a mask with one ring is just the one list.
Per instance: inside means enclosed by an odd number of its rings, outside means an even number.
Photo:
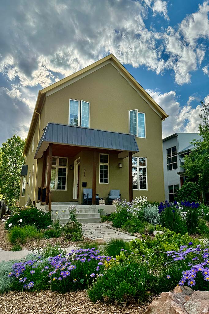
[{"label": "white-framed ground-floor window right of the porch's rightmost post", "polygon": [[132,157],[133,190],[147,190],[147,158]]}]

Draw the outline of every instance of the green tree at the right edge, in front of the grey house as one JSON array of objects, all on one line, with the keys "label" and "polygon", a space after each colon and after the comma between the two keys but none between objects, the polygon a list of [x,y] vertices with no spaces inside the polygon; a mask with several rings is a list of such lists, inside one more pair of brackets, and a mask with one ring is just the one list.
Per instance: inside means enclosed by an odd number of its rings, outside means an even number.
[{"label": "green tree at the right edge, in front of the grey house", "polygon": [[200,115],[202,124],[199,125],[199,134],[202,140],[193,140],[196,148],[184,157],[184,168],[189,179],[195,179],[201,192],[209,189],[209,103],[201,101],[202,112]]}]

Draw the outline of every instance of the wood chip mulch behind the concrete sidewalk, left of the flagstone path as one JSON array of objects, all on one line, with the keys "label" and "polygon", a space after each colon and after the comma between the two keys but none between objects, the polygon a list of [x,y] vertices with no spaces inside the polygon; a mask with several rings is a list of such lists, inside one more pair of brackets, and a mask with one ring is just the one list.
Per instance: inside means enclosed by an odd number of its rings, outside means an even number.
[{"label": "wood chip mulch behind the concrete sidewalk, left of the flagstone path", "polygon": [[[8,231],[4,229],[4,224],[0,223],[0,248],[4,251],[11,251],[13,245],[8,241],[7,237]],[[91,239],[83,237],[83,241],[73,242],[69,240],[65,240],[65,236],[61,236],[59,238],[51,238],[51,239],[41,239],[41,240],[31,240],[28,239],[26,243],[22,244],[22,249],[27,249],[33,251],[37,248],[44,248],[47,244],[55,245],[59,243],[62,248],[70,247],[70,246],[79,246],[84,242],[92,242]],[[1,313],[1,312],[0,312]]]}]

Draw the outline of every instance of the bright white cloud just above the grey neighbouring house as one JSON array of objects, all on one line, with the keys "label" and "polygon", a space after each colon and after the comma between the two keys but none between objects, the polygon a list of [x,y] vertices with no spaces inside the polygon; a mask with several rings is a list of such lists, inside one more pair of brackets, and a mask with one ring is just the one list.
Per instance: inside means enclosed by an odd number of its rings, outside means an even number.
[{"label": "bright white cloud just above the grey neighbouring house", "polygon": [[198,132],[198,125],[201,123],[200,105],[195,108],[190,105],[181,107],[174,90],[164,94],[154,90],[147,90],[147,92],[169,114],[162,123],[163,138],[175,132]]}]

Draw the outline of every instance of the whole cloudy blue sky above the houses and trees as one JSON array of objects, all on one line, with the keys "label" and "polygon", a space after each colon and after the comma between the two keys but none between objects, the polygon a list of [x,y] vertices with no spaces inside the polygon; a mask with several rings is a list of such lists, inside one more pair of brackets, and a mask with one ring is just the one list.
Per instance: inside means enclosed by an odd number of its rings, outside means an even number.
[{"label": "whole cloudy blue sky above the houses and trees", "polygon": [[164,137],[197,132],[209,0],[7,0],[0,29],[0,145],[26,137],[39,89],[109,53],[170,115]]}]

